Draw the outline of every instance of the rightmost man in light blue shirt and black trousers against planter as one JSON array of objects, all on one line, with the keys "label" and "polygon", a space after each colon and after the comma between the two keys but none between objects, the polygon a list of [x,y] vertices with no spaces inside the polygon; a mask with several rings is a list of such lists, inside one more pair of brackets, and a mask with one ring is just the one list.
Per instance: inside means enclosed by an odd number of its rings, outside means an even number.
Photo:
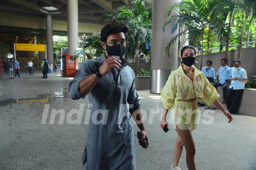
[{"label": "rightmost man in light blue shirt and black trousers against planter", "polygon": [[245,82],[247,82],[247,73],[241,68],[241,61],[234,60],[234,67],[230,70],[230,86],[226,94],[226,105],[231,114],[238,114],[239,107],[244,93]]}]

